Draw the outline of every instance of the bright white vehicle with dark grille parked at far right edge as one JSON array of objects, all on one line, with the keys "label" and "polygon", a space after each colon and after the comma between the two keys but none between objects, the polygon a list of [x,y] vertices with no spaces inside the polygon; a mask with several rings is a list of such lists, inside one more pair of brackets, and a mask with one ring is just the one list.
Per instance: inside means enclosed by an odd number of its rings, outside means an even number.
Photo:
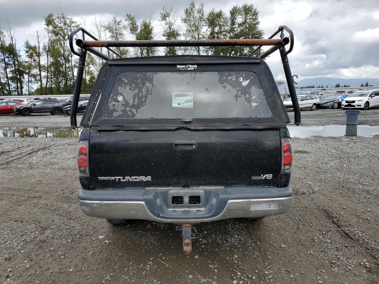
[{"label": "bright white vehicle with dark grille parked at far right edge", "polygon": [[341,104],[342,108],[361,108],[367,110],[379,106],[379,90],[357,91],[345,98]]}]

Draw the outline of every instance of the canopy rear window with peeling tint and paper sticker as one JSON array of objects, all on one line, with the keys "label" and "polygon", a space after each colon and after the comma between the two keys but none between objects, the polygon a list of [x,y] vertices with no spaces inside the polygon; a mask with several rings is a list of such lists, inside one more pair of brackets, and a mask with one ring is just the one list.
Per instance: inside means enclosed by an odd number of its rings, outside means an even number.
[{"label": "canopy rear window with peeling tint and paper sticker", "polygon": [[250,71],[123,72],[103,118],[271,117]]}]

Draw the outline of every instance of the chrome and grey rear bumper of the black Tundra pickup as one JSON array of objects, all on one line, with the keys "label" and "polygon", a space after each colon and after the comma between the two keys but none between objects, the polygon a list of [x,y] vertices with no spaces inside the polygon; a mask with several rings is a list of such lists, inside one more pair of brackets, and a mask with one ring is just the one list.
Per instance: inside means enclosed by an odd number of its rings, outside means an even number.
[{"label": "chrome and grey rear bumper of the black Tundra pickup", "polygon": [[[133,197],[137,191],[133,188],[117,190],[81,189],[78,192],[80,208],[84,214],[97,218],[142,219],[164,223],[200,223],[227,218],[265,217],[283,214],[288,212],[292,201],[291,187],[142,189],[142,192]],[[172,205],[171,199],[166,200],[168,199],[166,196],[172,196],[172,192],[175,195],[183,194],[184,200],[186,200],[186,195],[191,194],[199,194],[204,200],[197,205]],[[166,204],[163,205],[163,203]]]}]

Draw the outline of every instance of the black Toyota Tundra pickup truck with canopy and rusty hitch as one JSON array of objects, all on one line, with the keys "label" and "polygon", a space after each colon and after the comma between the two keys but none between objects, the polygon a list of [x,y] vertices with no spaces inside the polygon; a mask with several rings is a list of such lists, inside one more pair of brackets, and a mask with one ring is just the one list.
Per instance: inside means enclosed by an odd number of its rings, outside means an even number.
[{"label": "black Toyota Tundra pickup truck with canopy and rusty hitch", "polygon": [[[274,48],[285,52],[279,42]],[[84,62],[96,40],[77,45]],[[189,253],[194,223],[290,209],[290,119],[262,58],[106,59],[80,123],[78,199],[86,215],[177,224]],[[289,66],[286,75],[292,79]]]}]

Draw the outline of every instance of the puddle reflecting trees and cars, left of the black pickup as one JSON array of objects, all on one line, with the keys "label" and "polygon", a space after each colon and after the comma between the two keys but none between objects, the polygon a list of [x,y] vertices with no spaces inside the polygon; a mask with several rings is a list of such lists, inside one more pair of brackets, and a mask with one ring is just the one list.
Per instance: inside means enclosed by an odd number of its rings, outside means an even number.
[{"label": "puddle reflecting trees and cars, left of the black pickup", "polygon": [[64,127],[0,127],[0,137],[79,137],[81,128]]}]

